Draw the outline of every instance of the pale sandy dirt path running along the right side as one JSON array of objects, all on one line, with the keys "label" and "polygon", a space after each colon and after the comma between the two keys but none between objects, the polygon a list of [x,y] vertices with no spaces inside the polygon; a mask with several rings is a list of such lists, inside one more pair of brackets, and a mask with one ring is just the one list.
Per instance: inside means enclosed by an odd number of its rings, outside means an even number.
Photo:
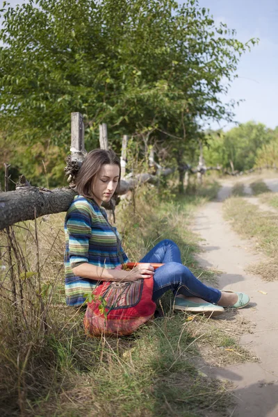
[{"label": "pale sandy dirt path running along the right side", "polygon": [[[264,282],[244,271],[260,257],[222,218],[222,201],[231,193],[232,185],[231,181],[224,183],[218,202],[208,203],[197,214],[194,230],[205,239],[199,263],[224,271],[220,288],[250,295],[250,307],[238,314],[254,323],[254,332],[244,335],[240,343],[254,352],[259,361],[222,369],[202,366],[202,372],[234,382],[237,405],[231,416],[278,417],[278,281]],[[278,179],[271,180],[271,186],[278,191]]]}]

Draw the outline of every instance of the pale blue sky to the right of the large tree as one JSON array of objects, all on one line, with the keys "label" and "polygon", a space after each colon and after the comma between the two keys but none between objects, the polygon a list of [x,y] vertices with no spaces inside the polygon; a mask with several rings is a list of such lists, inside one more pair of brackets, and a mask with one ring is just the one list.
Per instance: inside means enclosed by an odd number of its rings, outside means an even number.
[{"label": "pale blue sky to the right of the large tree", "polygon": [[[15,6],[24,1],[10,0],[9,3]],[[274,129],[278,126],[278,1],[199,0],[199,6],[209,8],[215,22],[236,29],[236,37],[241,42],[260,39],[259,45],[240,57],[238,79],[222,99],[224,102],[244,100],[235,109],[236,122],[254,120]],[[211,128],[227,130],[234,125],[213,122]]]}]

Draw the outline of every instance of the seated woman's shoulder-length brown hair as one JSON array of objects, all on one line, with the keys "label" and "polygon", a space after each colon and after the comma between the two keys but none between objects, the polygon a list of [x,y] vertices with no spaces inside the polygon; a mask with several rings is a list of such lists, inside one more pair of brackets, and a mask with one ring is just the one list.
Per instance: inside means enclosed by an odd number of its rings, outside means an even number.
[{"label": "seated woman's shoulder-length brown hair", "polygon": [[92,198],[92,180],[101,170],[102,165],[106,164],[117,165],[120,168],[120,177],[115,190],[115,193],[117,193],[121,178],[121,163],[115,152],[110,149],[108,151],[105,149],[94,149],[85,156],[75,180],[77,193],[83,195],[83,197]]}]

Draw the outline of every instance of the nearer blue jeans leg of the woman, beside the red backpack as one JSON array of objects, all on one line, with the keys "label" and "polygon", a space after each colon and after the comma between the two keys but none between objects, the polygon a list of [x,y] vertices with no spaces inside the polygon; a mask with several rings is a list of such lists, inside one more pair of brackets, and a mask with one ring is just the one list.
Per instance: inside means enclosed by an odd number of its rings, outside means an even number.
[{"label": "nearer blue jeans leg of the woman, beside the red backpack", "polygon": [[187,297],[200,297],[213,304],[217,304],[221,297],[221,291],[206,286],[186,266],[177,262],[166,263],[154,273],[153,300],[156,301],[168,290]]}]

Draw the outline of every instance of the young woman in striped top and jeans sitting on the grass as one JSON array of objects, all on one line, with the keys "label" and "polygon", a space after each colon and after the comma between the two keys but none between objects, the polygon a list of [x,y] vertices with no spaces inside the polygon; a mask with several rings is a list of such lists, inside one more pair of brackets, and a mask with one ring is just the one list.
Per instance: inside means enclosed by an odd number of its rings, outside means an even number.
[{"label": "young woman in striped top and jeans sitting on the grass", "polygon": [[[85,303],[99,281],[135,281],[154,277],[153,300],[166,291],[174,293],[174,310],[218,316],[224,307],[240,309],[248,295],[206,286],[181,263],[179,247],[162,240],[131,271],[120,236],[109,224],[102,202],[109,202],[120,183],[120,160],[111,150],[95,149],[85,157],[76,178],[79,193],[65,218],[65,293],[70,306]],[[164,263],[154,272],[152,263]]]}]

